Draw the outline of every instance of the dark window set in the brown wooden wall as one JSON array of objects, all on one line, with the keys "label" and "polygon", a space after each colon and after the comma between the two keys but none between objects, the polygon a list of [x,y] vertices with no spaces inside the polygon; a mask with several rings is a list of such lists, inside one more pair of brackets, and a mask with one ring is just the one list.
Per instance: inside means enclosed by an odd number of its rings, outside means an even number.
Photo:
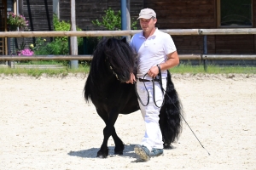
[{"label": "dark window set in the brown wooden wall", "polygon": [[218,27],[253,27],[253,0],[218,0]]}]

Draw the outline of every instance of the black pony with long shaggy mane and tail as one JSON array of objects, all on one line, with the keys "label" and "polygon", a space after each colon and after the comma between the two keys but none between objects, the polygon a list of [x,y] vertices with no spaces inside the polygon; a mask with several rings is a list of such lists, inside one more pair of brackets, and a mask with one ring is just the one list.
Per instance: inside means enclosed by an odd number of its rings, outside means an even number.
[{"label": "black pony with long shaggy mane and tail", "polygon": [[[108,138],[113,137],[114,153],[122,155],[124,143],[115,132],[114,123],[119,113],[129,114],[139,110],[135,85],[125,83],[131,72],[136,75],[136,56],[126,42],[116,38],[105,38],[98,43],[90,65],[90,73],[84,86],[84,98],[96,107],[106,123],[104,139],[97,157],[108,156]],[[160,110],[160,129],[165,148],[181,133],[181,105],[168,71],[165,104]]]}]

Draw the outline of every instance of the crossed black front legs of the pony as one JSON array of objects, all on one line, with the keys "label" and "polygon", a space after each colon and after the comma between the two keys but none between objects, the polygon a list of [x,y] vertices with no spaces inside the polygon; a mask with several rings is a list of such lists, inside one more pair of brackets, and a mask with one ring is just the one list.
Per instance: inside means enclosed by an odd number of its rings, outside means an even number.
[{"label": "crossed black front legs of the pony", "polygon": [[102,117],[103,121],[106,123],[106,127],[103,129],[104,139],[101,146],[101,149],[97,152],[97,157],[106,158],[108,156],[108,139],[112,135],[114,143],[116,144],[114,153],[122,154],[124,150],[124,144],[121,139],[119,139],[118,135],[115,132],[115,128],[113,127],[114,123],[117,120],[119,115],[118,112],[112,111],[109,116],[107,112],[97,111],[98,115]]}]

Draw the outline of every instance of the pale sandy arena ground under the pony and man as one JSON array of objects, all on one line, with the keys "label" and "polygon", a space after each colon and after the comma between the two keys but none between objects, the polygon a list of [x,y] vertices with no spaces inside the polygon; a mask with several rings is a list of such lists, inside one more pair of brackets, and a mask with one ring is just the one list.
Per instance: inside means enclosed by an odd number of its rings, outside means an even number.
[{"label": "pale sandy arena ground under the pony and man", "polygon": [[83,97],[86,77],[0,75],[0,170],[9,169],[256,169],[256,75],[172,76],[183,103],[175,149],[148,162],[133,148],[143,138],[140,111],[119,115],[123,156],[96,158],[104,122]]}]

